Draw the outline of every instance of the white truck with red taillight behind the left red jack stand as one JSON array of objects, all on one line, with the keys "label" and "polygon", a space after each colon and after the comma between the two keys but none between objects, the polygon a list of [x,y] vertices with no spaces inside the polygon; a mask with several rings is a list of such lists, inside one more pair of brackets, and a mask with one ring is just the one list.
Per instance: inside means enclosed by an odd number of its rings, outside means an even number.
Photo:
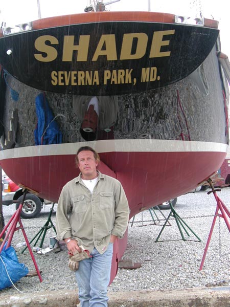
[{"label": "white truck with red taillight behind the left red jack stand", "polygon": [[[9,206],[15,204],[18,209],[20,202],[23,199],[23,190],[16,183],[14,183],[9,177],[2,177],[3,183],[3,205]],[[36,217],[43,208],[44,205],[51,204],[50,201],[44,200],[37,195],[27,193],[24,204],[22,206],[20,216],[22,218]]]}]

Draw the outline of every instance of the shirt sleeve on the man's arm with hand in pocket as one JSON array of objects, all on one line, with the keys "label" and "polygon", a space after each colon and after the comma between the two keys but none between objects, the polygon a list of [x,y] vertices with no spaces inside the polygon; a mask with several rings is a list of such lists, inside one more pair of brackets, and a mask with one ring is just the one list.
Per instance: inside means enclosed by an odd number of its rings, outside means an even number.
[{"label": "shirt sleeve on the man's arm with hand in pocket", "polygon": [[111,234],[123,238],[129,222],[129,205],[120,182],[114,192],[114,199],[116,202],[115,223]]}]

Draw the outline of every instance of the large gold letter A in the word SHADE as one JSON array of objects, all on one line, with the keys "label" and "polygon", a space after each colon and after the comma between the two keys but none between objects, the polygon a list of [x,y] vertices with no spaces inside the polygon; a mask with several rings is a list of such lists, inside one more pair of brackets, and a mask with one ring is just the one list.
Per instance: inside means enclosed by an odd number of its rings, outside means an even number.
[{"label": "large gold letter A in the word SHADE", "polygon": [[[105,49],[103,49],[104,45]],[[108,61],[118,59],[114,34],[104,34],[101,36],[92,61],[97,61],[100,55],[106,55]]]}]

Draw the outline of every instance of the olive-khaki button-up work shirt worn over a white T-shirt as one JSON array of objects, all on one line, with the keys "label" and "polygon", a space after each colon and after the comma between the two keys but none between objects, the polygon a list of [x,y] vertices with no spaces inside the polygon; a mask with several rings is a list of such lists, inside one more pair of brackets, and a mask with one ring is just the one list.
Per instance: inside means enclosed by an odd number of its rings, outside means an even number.
[{"label": "olive-khaki button-up work shirt worn over a white T-shirt", "polygon": [[89,252],[102,254],[111,234],[122,238],[128,226],[129,207],[121,183],[99,173],[91,193],[81,174],[62,188],[56,212],[57,238],[72,237]]}]

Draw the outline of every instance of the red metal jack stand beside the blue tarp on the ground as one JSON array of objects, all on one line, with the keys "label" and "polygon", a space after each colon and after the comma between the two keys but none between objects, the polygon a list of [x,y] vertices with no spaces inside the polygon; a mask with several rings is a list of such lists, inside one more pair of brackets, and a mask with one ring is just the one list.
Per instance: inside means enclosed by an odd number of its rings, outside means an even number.
[{"label": "red metal jack stand beside the blue tarp on the ground", "polygon": [[[28,249],[29,249],[31,258],[32,258],[32,260],[33,260],[33,262],[34,262],[34,266],[35,266],[35,269],[36,269],[36,271],[37,271],[37,275],[38,275],[39,280],[40,280],[40,282],[41,282],[41,281],[42,281],[41,274],[40,274],[40,271],[39,271],[39,269],[38,269],[37,262],[36,262],[36,260],[35,260],[35,258],[34,258],[34,254],[33,254],[32,249],[31,249],[31,247],[30,247],[30,243],[29,243],[28,237],[27,237],[27,235],[26,235],[26,232],[25,232],[25,230],[24,230],[24,227],[23,227],[23,225],[22,225],[22,223],[21,223],[21,218],[20,218],[21,209],[22,209],[22,204],[23,204],[24,201],[25,201],[25,197],[26,197],[27,192],[28,192],[28,190],[25,190],[25,191],[24,191],[22,202],[20,203],[18,209],[17,209],[17,210],[14,212],[14,214],[11,216],[9,222],[7,223],[7,225],[4,227],[3,231],[2,231],[1,234],[0,234],[0,239],[1,239],[1,238],[4,236],[4,233],[6,232],[6,235],[5,235],[5,238],[4,238],[4,240],[3,240],[3,243],[2,243],[2,245],[0,246],[0,254],[1,254],[2,250],[3,250],[3,247],[4,247],[4,245],[5,245],[6,242],[7,242],[6,248],[8,248],[8,247],[10,246],[11,241],[12,241],[12,238],[13,238],[13,235],[14,235],[14,232],[15,232],[16,230],[21,229],[21,231],[22,231],[22,233],[23,233],[23,235],[24,235],[24,238],[25,238],[27,247],[28,247]],[[19,223],[19,225],[20,225],[19,227],[16,227],[16,226],[17,226],[17,223]],[[11,225],[10,225],[10,224],[11,224]],[[9,227],[9,230],[7,231],[7,228],[8,228],[9,225],[10,225],[10,227]],[[9,237],[9,239],[8,239],[8,237]],[[8,239],[8,241],[7,241],[7,239]]]}]

